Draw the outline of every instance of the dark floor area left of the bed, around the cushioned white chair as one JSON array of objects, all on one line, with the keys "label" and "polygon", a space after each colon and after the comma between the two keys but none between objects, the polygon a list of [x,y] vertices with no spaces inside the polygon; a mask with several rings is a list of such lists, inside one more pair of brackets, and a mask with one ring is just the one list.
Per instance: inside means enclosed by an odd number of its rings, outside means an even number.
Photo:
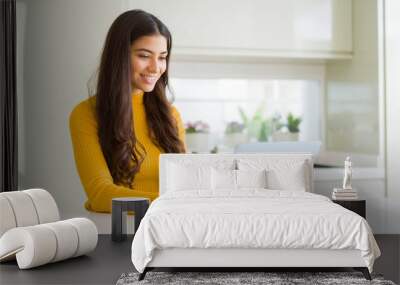
[{"label": "dark floor area left of the bed, around the cushioned white chair", "polygon": [[131,242],[115,243],[100,235],[96,250],[87,256],[28,270],[18,270],[16,262],[2,263],[0,284],[115,284],[122,273],[134,271]]}]

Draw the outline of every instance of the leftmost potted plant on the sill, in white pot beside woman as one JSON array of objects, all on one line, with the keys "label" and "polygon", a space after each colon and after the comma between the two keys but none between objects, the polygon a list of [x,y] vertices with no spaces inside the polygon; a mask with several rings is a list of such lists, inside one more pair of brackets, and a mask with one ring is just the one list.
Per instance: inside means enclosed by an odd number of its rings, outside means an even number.
[{"label": "leftmost potted plant on the sill, in white pot beside woman", "polygon": [[190,152],[208,152],[210,127],[203,121],[185,124],[186,146]]}]

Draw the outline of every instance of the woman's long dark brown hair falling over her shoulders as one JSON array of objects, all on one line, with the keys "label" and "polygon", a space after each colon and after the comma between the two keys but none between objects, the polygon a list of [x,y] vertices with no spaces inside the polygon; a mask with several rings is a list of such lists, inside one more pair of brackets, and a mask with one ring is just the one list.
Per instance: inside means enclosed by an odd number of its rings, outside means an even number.
[{"label": "woman's long dark brown hair falling over her shoulders", "polygon": [[185,152],[178,126],[166,98],[172,45],[168,28],[142,10],[124,12],[111,25],[101,55],[96,86],[96,116],[100,145],[116,184],[133,186],[146,156],[133,128],[131,45],[142,36],[162,35],[167,40],[167,68],[151,92],[144,93],[146,121],[153,143],[166,153]]}]

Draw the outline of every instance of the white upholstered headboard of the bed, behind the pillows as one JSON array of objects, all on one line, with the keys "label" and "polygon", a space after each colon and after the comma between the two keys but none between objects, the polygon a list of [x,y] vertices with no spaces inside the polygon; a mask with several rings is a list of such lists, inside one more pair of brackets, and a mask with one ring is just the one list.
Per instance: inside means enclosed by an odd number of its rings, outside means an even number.
[{"label": "white upholstered headboard of the bed, behind the pillows", "polygon": [[167,165],[170,162],[179,164],[202,164],[202,165],[220,165],[221,163],[231,162],[234,169],[237,169],[236,161],[240,159],[254,160],[285,160],[285,161],[302,161],[306,168],[307,192],[313,192],[313,161],[311,153],[246,153],[246,154],[161,154],[159,168],[159,190],[160,195],[167,191]]}]

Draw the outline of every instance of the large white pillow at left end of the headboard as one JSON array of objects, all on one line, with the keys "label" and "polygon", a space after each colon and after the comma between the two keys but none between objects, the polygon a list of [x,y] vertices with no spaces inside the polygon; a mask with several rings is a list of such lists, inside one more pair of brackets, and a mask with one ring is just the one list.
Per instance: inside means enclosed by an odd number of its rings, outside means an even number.
[{"label": "large white pillow at left end of the headboard", "polygon": [[168,191],[211,189],[211,167],[168,164]]}]

